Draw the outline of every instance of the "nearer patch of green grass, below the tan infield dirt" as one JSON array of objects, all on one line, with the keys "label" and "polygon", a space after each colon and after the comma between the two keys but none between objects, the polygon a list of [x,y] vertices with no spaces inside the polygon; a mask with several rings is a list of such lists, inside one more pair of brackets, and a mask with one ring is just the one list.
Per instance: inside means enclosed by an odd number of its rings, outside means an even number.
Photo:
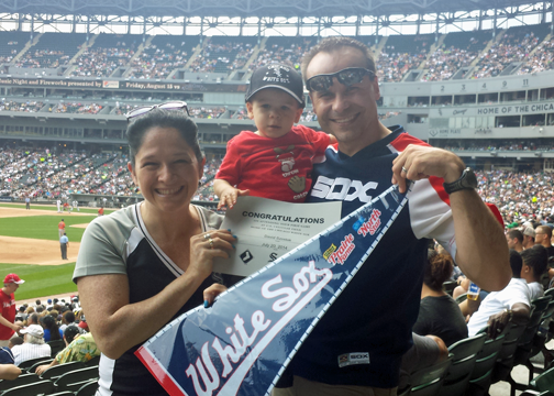
[{"label": "nearer patch of green grass, below the tan infield dirt", "polygon": [[15,292],[15,300],[77,292],[71,280],[75,263],[63,265],[0,264],[0,274],[18,274],[25,280]]}]

